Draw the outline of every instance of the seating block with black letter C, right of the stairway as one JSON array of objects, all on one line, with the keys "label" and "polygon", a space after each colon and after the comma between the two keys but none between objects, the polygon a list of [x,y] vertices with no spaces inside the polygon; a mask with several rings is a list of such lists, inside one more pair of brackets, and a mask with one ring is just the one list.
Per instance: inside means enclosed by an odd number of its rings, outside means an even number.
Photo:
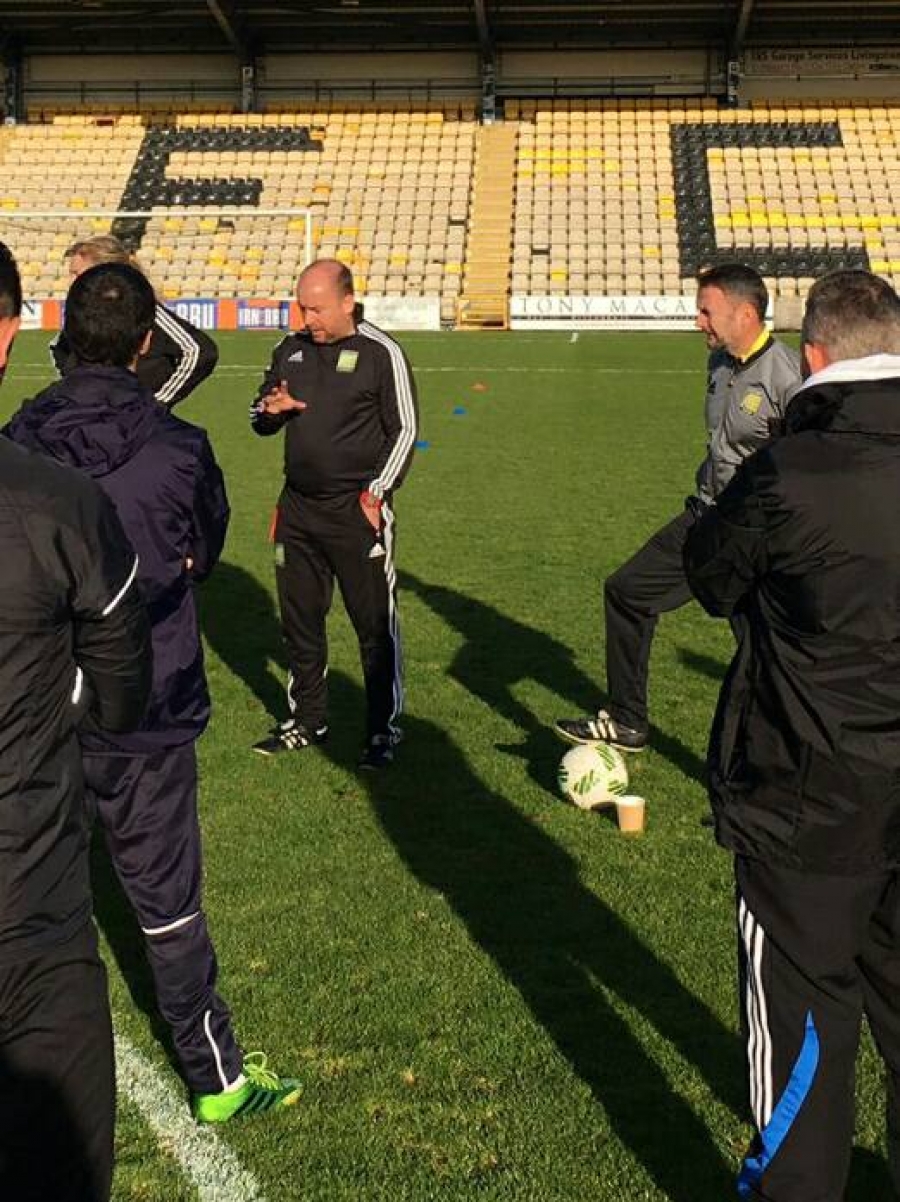
[{"label": "seating block with black letter C, right of the stairway", "polygon": [[900,108],[624,100],[514,113],[515,293],[693,291],[695,270],[731,254],[780,296],[866,262],[900,284]]}]

